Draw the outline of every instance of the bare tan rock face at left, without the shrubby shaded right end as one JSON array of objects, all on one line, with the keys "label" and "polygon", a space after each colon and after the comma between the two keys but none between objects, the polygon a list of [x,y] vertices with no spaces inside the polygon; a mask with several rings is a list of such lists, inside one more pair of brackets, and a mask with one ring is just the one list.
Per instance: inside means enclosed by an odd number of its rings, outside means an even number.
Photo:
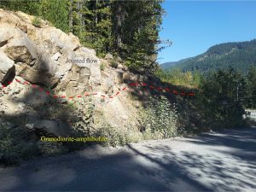
[{"label": "bare tan rock face at left, without the shrubby shaded right end", "polygon": [[0,124],[25,129],[32,143],[45,134],[65,137],[74,130],[91,135],[108,125],[131,132],[138,104],[125,82],[142,77],[120,63],[110,67],[111,55],[99,59],[72,33],[44,20],[33,26],[33,19],[0,9]]}]

